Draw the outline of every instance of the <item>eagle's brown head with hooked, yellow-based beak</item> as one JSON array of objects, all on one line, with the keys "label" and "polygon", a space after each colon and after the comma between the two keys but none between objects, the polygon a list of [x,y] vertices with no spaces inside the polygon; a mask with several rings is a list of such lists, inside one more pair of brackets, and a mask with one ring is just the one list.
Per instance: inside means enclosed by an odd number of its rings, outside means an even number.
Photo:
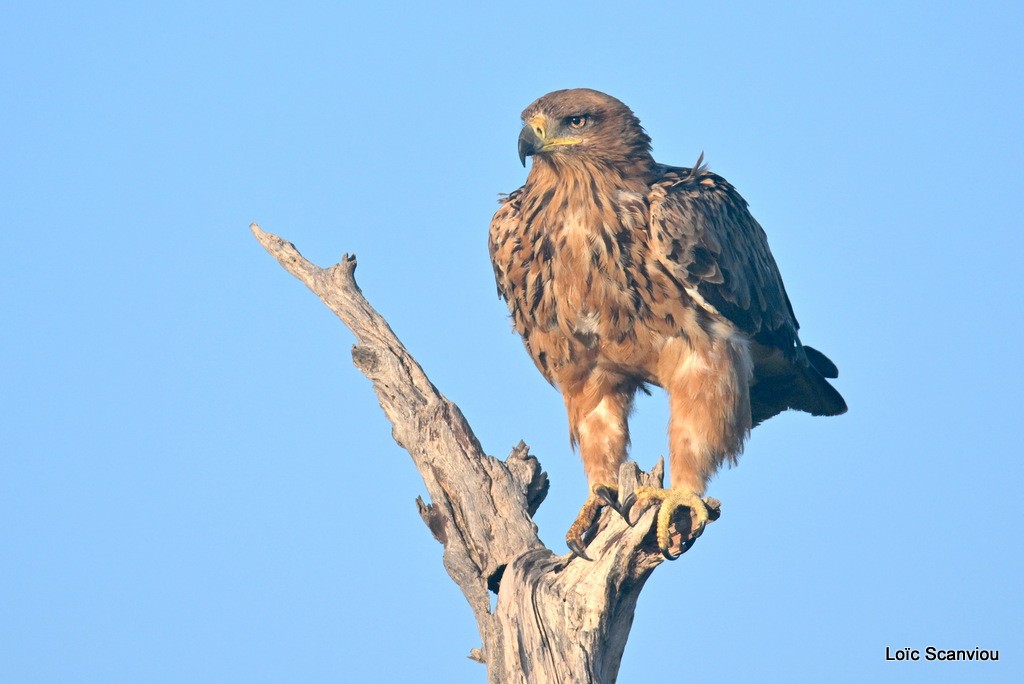
[{"label": "eagle's brown head with hooked, yellow-based beak", "polygon": [[522,113],[519,161],[590,161],[612,166],[650,163],[650,137],[633,111],[589,88],[555,90]]}]

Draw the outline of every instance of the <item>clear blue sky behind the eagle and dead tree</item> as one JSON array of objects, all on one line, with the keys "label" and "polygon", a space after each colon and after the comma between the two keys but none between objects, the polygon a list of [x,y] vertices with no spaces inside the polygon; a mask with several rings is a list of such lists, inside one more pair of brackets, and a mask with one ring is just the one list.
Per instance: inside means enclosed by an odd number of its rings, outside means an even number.
[{"label": "clear blue sky behind the eagle and dead tree", "polygon": [[[588,86],[740,189],[850,404],[754,432],[621,682],[1024,681],[1022,5],[371,4],[0,8],[0,680],[484,681],[351,335],[248,224],[358,255],[561,550],[486,229],[519,112]],[[1002,659],[884,660],[933,644]]]}]

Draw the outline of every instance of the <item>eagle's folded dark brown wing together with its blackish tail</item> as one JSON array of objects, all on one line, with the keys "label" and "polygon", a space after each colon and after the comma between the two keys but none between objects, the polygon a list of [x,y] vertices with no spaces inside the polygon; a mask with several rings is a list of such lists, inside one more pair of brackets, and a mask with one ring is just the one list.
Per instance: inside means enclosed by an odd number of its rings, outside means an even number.
[{"label": "eagle's folded dark brown wing together with its blackish tail", "polygon": [[651,191],[651,232],[690,298],[714,307],[760,345],[751,388],[754,425],[787,409],[846,413],[846,401],[825,380],[839,370],[800,344],[768,238],[728,181],[701,169],[699,160],[694,169],[664,167]]}]

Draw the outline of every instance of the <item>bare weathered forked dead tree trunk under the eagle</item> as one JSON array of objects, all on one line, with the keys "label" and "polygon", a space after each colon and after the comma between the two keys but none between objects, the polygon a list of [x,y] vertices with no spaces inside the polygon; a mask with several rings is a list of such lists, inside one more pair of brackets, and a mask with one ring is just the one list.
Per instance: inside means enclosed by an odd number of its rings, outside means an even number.
[{"label": "bare weathered forked dead tree trunk under the eagle", "polygon": [[[548,493],[538,460],[522,442],[505,461],[484,454],[459,408],[362,296],[355,257],[321,268],[291,243],[250,227],[355,335],[352,360],[373,382],[395,441],[427,487],[430,503],[417,499],[417,506],[476,617],[482,645],[470,657],[486,664],[488,682],[614,682],[637,598],[664,560],[653,511],[633,527],[605,511],[588,538],[593,561],[553,553],[532,520]],[[660,486],[663,472],[660,463],[652,473],[625,464],[623,496],[639,484]],[[488,592],[498,595],[493,611]]]}]

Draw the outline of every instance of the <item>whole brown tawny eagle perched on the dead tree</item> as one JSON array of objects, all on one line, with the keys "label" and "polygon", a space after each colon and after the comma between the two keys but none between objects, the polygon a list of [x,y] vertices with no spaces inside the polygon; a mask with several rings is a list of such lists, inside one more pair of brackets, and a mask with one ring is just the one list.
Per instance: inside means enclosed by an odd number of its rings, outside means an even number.
[{"label": "whole brown tawny eagle perched on the dead tree", "polygon": [[[589,89],[549,93],[522,113],[526,183],[490,223],[498,291],[537,368],[562,393],[590,497],[566,542],[602,505],[660,505],[657,541],[686,508],[688,549],[703,530],[708,480],[735,463],[751,428],[787,409],[836,416],[836,366],[804,346],[778,266],[746,202],[724,178],[654,161],[633,112]],[[633,397],[668,392],[671,489],[617,497]]]}]

